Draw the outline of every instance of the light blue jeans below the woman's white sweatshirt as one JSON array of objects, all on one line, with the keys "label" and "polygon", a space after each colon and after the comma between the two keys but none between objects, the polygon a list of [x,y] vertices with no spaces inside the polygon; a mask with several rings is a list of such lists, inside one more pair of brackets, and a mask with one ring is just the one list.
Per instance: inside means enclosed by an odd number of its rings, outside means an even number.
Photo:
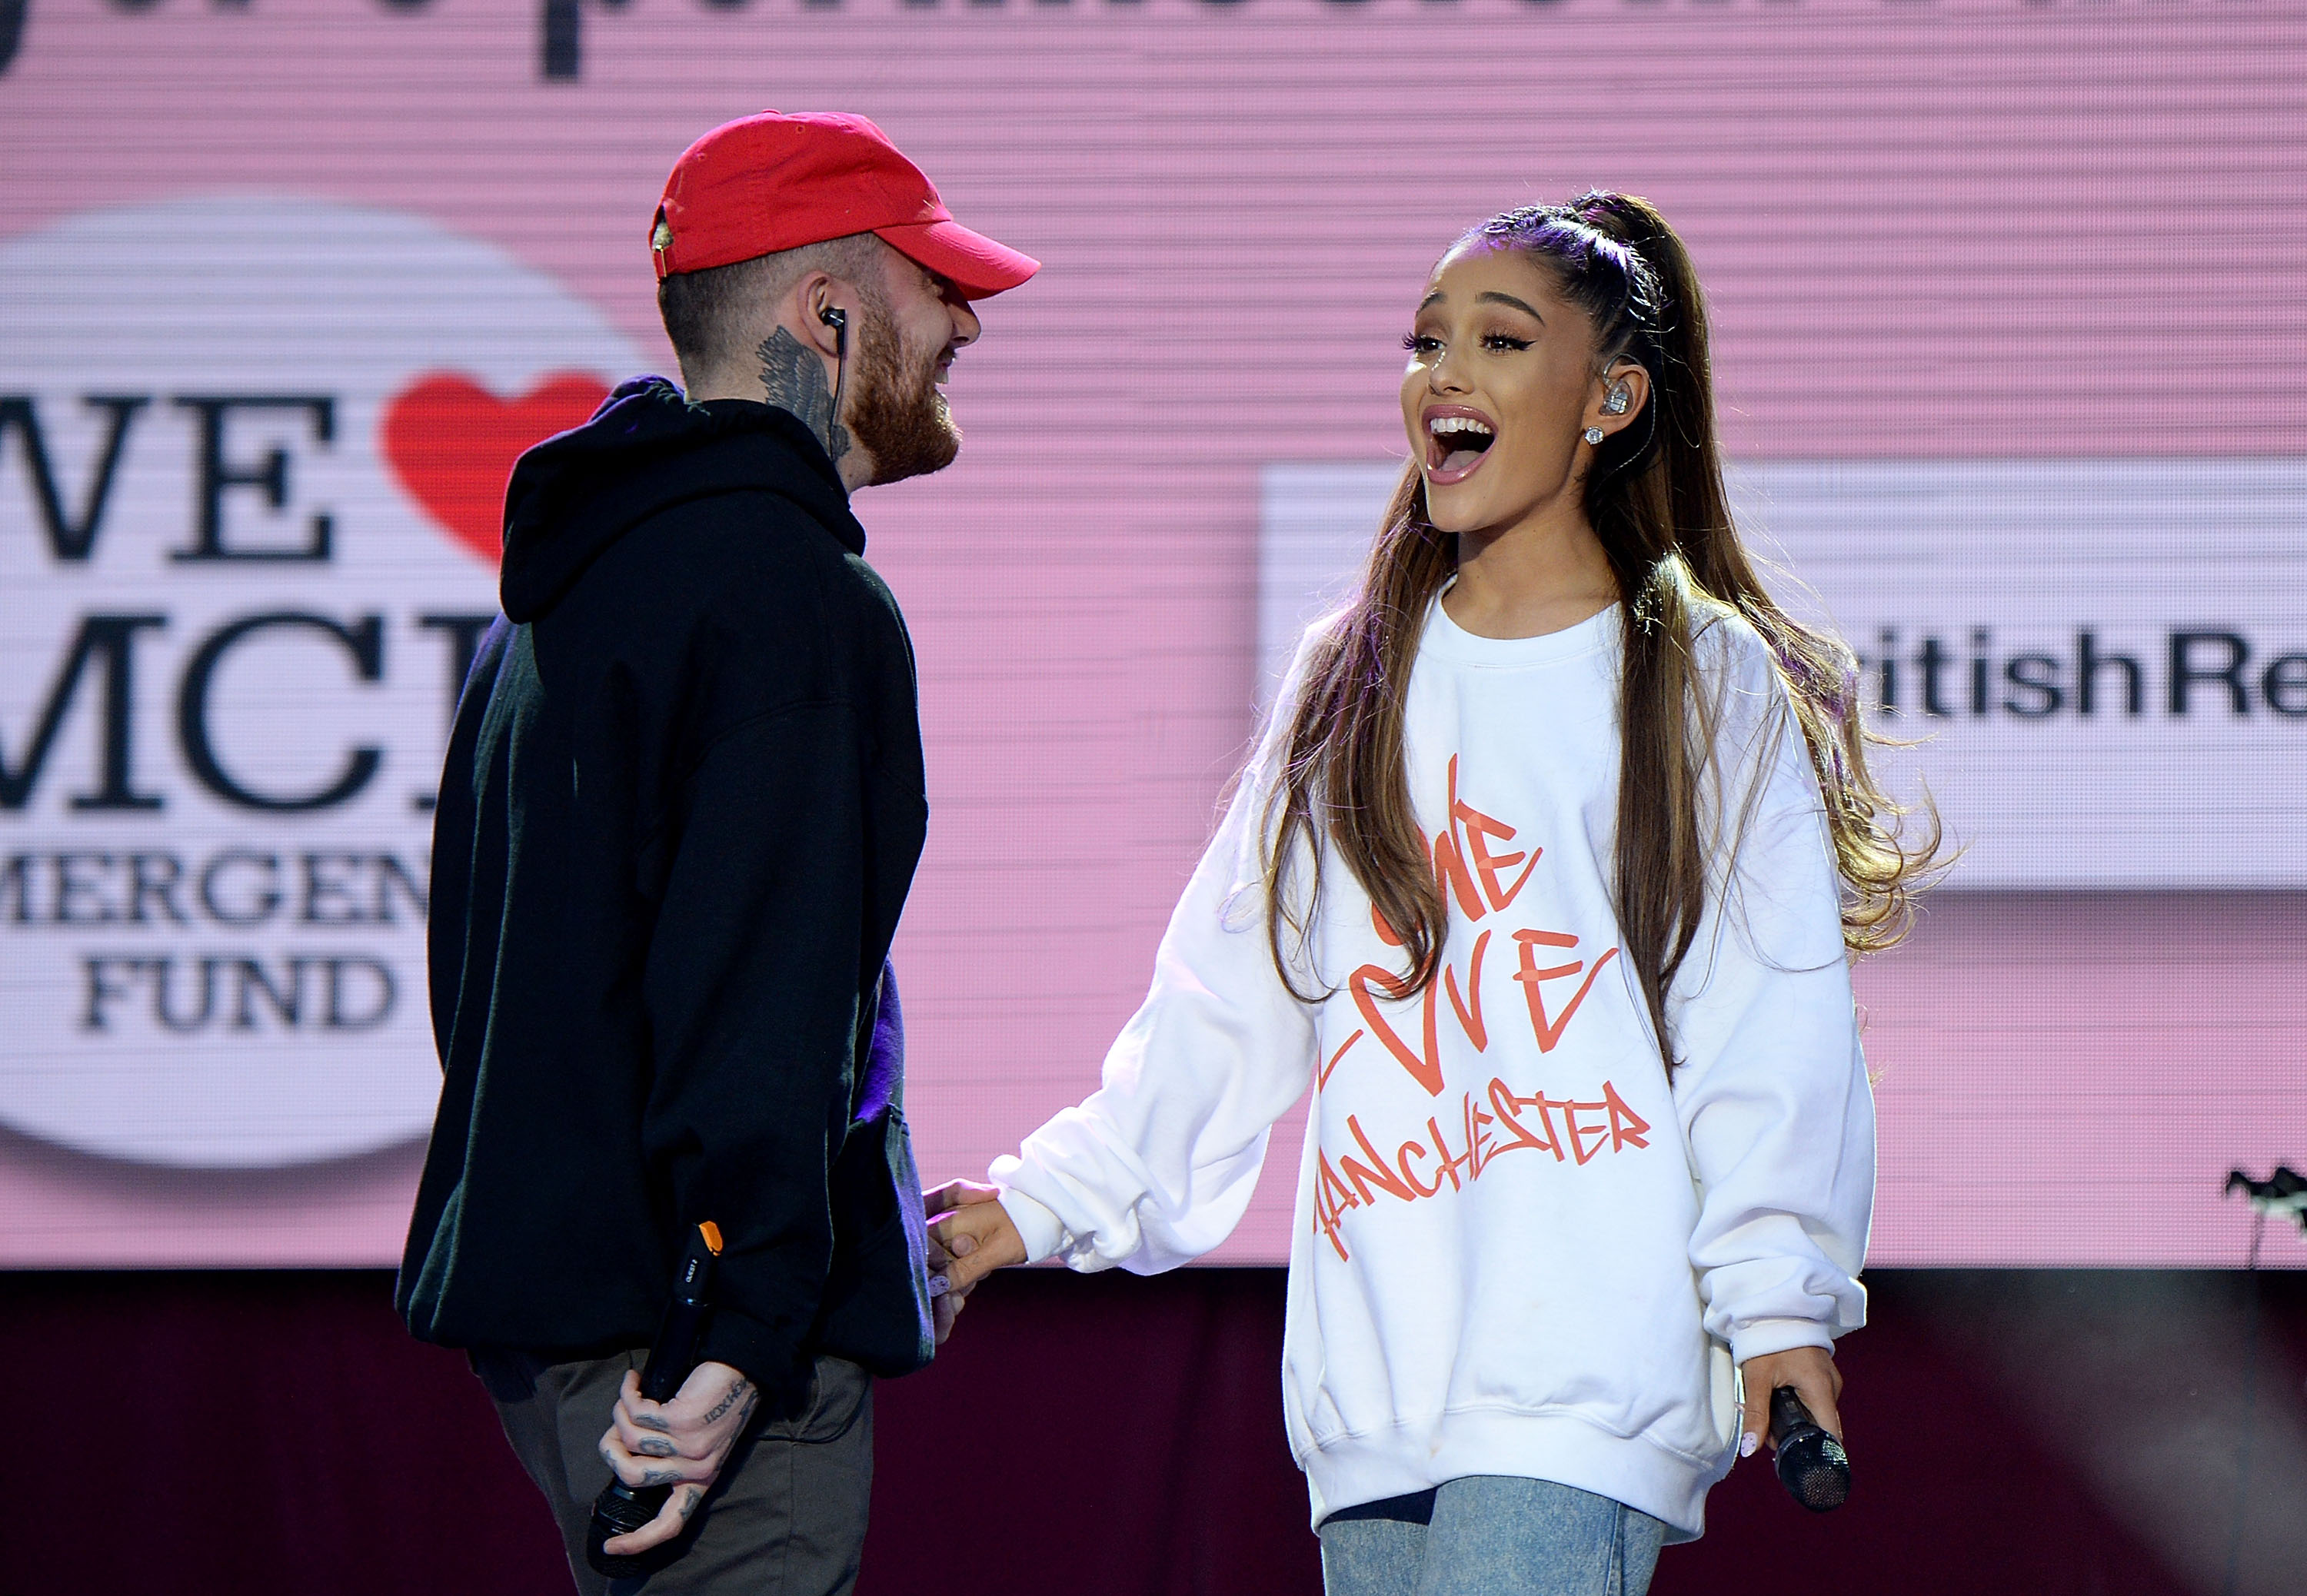
[{"label": "light blue jeans below the woman's white sweatshirt", "polygon": [[1322,1520],[1327,1596],[1643,1596],[1666,1525],[1573,1485],[1472,1474]]}]

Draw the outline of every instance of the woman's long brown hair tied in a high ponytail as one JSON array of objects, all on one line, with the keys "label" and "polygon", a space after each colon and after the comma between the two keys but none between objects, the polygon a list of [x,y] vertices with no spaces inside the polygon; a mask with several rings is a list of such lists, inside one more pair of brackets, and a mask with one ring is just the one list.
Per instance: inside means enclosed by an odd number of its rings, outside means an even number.
[{"label": "woman's long brown hair tied in a high ponytail", "polygon": [[[1834,637],[1772,602],[1739,542],[1714,438],[1705,298],[1666,217],[1629,194],[1509,210],[1458,247],[1516,249],[1546,265],[1594,325],[1596,371],[1633,360],[1650,371],[1636,424],[1596,450],[1585,510],[1620,590],[1620,789],[1615,893],[1624,955],[1643,987],[1666,1068],[1675,1045],[1666,994],[1698,936],[1709,844],[1730,840],[1730,796],[1716,770],[1714,703],[1696,637],[1737,613],[1767,643],[1825,798],[1843,879],[1843,943],[1896,943],[1933,872],[1940,833],[1901,837],[1901,805],[1866,770],[1855,660]],[[1456,537],[1426,519],[1416,461],[1370,549],[1361,590],[1315,641],[1287,715],[1283,768],[1267,812],[1267,932],[1276,969],[1301,992],[1285,946],[1322,895],[1327,840],[1370,895],[1410,959],[1407,992],[1442,964],[1449,904],[1410,803],[1403,722],[1428,607],[1458,567]],[[1714,807],[1709,810],[1709,784]],[[1294,874],[1306,860],[1310,881]],[[1721,888],[1716,888],[1721,890]]]}]

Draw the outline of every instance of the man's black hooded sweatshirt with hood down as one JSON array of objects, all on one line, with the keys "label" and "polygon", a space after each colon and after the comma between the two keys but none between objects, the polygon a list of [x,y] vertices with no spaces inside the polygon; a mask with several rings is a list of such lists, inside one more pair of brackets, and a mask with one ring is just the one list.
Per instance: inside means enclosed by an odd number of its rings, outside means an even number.
[{"label": "man's black hooded sweatshirt with hood down", "polygon": [[662,378],[540,443],[434,819],[445,1082],[399,1308],[450,1347],[641,1347],[683,1239],[704,1354],[930,1358],[891,934],[920,858],[914,653],[833,461]]}]

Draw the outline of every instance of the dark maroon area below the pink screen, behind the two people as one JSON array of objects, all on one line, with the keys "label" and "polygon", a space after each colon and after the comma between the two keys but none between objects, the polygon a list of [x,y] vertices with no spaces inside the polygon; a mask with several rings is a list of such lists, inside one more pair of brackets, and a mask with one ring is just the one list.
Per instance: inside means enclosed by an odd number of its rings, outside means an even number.
[{"label": "dark maroon area below the pink screen, behind the two people", "polygon": [[[1850,1506],[1813,1520],[1749,1462],[1661,1596],[2222,1589],[2240,1275],[1869,1285]],[[1280,1303],[1280,1271],[994,1280],[937,1368],[881,1386],[863,1596],[1315,1594]],[[2235,1589],[2272,1596],[2307,1568],[2307,1275],[2263,1275],[2259,1319]],[[0,1596],[568,1589],[480,1386],[401,1333],[388,1275],[9,1275],[0,1349],[21,1386]]]}]

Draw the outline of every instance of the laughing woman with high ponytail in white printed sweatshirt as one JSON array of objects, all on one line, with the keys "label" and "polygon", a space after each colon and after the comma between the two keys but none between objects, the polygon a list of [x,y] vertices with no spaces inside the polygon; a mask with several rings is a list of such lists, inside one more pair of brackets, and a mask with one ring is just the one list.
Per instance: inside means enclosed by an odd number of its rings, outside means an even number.
[{"label": "laughing woman with high ponytail in white printed sweatshirt", "polygon": [[[1105,1084],[932,1195],[948,1278],[1154,1273],[1313,1084],[1283,1402],[1331,1596],[1638,1594],[1774,1386],[1841,1432],[1908,849],[1853,657],[1756,579],[1640,198],[1460,238],[1410,468],[1299,646]],[[1733,1365],[1744,1377],[1735,1395]]]}]

